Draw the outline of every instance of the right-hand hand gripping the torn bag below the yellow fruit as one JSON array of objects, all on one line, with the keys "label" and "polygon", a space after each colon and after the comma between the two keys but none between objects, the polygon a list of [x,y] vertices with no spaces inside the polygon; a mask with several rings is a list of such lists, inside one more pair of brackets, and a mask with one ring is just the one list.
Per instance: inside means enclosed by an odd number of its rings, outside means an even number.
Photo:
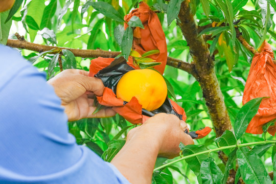
[{"label": "right-hand hand gripping the torn bag below the yellow fruit", "polygon": [[137,139],[136,136],[148,137],[148,141],[156,142],[158,156],[174,158],[179,156],[179,143],[194,144],[190,135],[184,131],[187,124],[173,114],[158,113],[149,118],[143,125],[128,132],[127,142]]}]

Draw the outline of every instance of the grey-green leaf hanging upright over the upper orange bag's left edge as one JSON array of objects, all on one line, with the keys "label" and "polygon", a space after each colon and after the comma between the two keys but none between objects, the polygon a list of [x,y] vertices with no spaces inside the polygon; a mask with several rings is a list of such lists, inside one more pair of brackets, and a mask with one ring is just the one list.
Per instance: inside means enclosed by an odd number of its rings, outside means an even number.
[{"label": "grey-green leaf hanging upright over the upper orange bag's left edge", "polygon": [[132,40],[133,40],[132,28],[127,27],[127,29],[123,35],[122,44],[121,44],[122,54],[126,60],[128,60],[128,56],[129,56],[131,48],[132,48]]}]

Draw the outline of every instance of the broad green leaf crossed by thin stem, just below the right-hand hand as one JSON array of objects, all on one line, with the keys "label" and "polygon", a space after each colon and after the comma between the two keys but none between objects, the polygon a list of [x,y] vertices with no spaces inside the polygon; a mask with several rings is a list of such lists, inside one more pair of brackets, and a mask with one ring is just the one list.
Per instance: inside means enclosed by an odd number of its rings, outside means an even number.
[{"label": "broad green leaf crossed by thin stem, just below the right-hand hand", "polygon": [[[183,156],[188,156],[194,153],[205,151],[206,148],[202,146],[196,146],[196,145],[187,145],[182,151]],[[207,154],[201,154],[194,156],[192,158],[185,159],[187,164],[189,165],[189,168],[195,173],[197,176],[197,180],[199,183],[201,183],[201,175],[200,175],[200,166],[204,159],[208,158]]]}]

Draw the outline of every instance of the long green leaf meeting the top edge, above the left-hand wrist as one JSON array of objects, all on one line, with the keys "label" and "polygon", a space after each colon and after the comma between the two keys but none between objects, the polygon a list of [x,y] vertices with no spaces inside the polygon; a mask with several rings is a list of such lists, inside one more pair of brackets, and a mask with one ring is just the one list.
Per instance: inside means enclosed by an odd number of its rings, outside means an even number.
[{"label": "long green leaf meeting the top edge, above the left-hand wrist", "polygon": [[52,18],[54,17],[56,10],[57,10],[57,0],[50,1],[49,5],[44,9],[41,24],[40,24],[40,29],[52,28]]}]

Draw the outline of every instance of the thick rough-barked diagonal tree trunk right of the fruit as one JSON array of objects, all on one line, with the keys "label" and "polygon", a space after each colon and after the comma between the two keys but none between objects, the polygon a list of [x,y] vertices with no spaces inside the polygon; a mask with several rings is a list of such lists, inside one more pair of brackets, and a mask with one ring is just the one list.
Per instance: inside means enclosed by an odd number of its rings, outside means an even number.
[{"label": "thick rough-barked diagonal tree trunk right of the fruit", "polygon": [[197,26],[188,1],[181,3],[178,17],[180,19],[178,26],[190,47],[190,54],[193,57],[192,64],[195,66],[195,75],[193,74],[193,76],[201,86],[216,135],[220,136],[225,130],[232,129],[232,125],[215,74],[214,58],[210,56],[208,45],[203,37],[198,36]]}]

